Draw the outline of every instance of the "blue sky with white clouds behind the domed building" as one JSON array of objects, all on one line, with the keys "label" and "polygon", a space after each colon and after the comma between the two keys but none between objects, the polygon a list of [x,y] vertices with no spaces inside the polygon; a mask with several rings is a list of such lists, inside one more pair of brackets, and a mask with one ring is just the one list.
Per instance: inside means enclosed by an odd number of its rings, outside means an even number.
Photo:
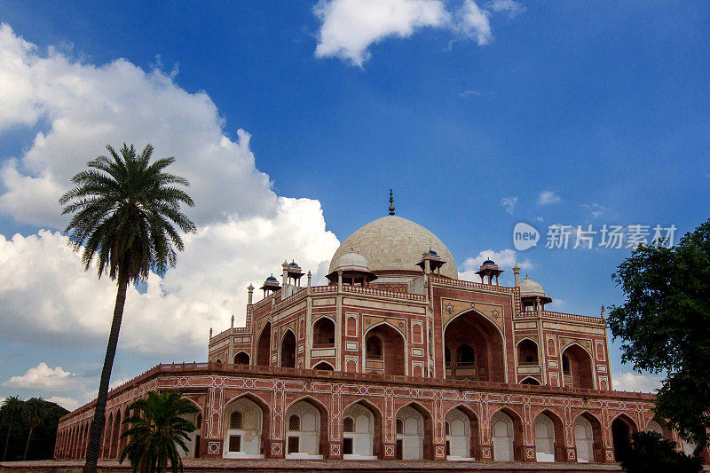
[{"label": "blue sky with white clouds behind the domed building", "polygon": [[[317,272],[335,237],[344,240],[385,214],[390,187],[398,215],[444,240],[461,272],[471,265],[467,258],[488,250],[504,262],[525,261],[524,272],[559,300],[555,310],[572,313],[596,315],[602,304],[619,303],[611,272],[629,250],[548,249],[543,234],[538,248],[515,254],[517,222],[542,233],[551,224],[659,224],[682,234],[707,219],[706,2],[392,3],[399,6],[393,18],[372,25],[357,15],[372,4],[356,0],[0,1],[0,22],[12,28],[0,47],[28,65],[0,66],[6,254],[14,251],[14,264],[35,271],[36,261],[62,253],[60,235],[37,233],[63,224],[47,202],[106,142],[122,139],[137,146],[150,139],[157,154],[175,154],[204,195],[196,221],[214,233],[181,256],[182,268],[154,278],[152,300],[168,304],[164,309],[150,301],[135,307],[157,318],[192,304],[177,321],[202,332],[225,328],[232,311],[243,317],[245,295],[232,293],[278,271],[284,258]],[[355,5],[356,14],[343,5]],[[17,52],[20,37],[36,49]],[[62,83],[67,76],[73,79]],[[28,93],[18,86],[26,81],[33,84]],[[142,88],[139,99],[122,87],[131,81]],[[99,84],[96,91],[75,92],[90,83]],[[115,118],[122,105],[124,117],[135,117]],[[98,117],[110,131],[94,130],[83,116]],[[131,129],[141,120],[160,136]],[[205,132],[194,134],[202,126]],[[47,139],[38,141],[38,133]],[[201,140],[214,147],[220,133],[224,156],[199,174],[209,148]],[[178,136],[185,145],[171,148]],[[222,181],[209,180],[222,169]],[[511,212],[501,205],[507,198],[517,198]],[[272,228],[268,238],[240,240],[264,222]],[[311,222],[312,230],[299,222]],[[15,233],[21,238],[11,244]],[[306,249],[313,245],[319,248]],[[244,251],[259,261],[249,262]],[[190,262],[202,260],[214,264],[199,278],[189,275]],[[5,277],[17,266],[5,262]],[[96,319],[104,306],[77,302],[67,291],[51,296],[62,292],[51,284],[46,304],[22,313],[18,301],[36,294],[33,285],[43,292],[45,282],[34,275],[20,282],[0,284],[0,397],[17,391],[64,398],[67,406],[83,402],[103,359]],[[109,286],[101,286],[101,301]],[[52,304],[60,307],[52,312]],[[73,312],[77,304],[81,314]],[[54,317],[44,324],[47,314]],[[32,321],[17,322],[25,317]],[[129,327],[122,336],[114,380],[159,361],[204,359],[206,334],[127,341],[146,330],[141,317],[127,322],[136,332]],[[161,350],[146,348],[154,343]],[[613,371],[629,369],[617,353]],[[649,385],[628,379],[637,382],[629,388]]]}]

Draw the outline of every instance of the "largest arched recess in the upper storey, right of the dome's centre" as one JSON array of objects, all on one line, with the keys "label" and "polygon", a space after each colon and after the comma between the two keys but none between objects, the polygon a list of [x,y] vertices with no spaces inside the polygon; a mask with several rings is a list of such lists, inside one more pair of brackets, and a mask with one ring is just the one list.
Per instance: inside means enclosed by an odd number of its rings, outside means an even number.
[{"label": "largest arched recess in the upper storey, right of the dome's centre", "polygon": [[444,344],[447,378],[505,381],[501,332],[477,311],[452,319],[446,325]]}]

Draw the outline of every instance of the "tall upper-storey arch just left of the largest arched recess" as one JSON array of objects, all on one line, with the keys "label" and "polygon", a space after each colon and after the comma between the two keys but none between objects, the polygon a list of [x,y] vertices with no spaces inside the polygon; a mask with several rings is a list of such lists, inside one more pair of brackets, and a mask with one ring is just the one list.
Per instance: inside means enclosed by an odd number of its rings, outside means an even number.
[{"label": "tall upper-storey arch just left of the largest arched recess", "polygon": [[405,374],[405,339],[389,324],[380,324],[365,334],[365,372]]}]

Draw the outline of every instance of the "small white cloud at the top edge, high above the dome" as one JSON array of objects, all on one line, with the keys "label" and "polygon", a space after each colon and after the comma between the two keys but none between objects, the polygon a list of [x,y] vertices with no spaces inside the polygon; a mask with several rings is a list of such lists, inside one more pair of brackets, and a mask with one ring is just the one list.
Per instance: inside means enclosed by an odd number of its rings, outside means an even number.
[{"label": "small white cloud at the top edge, high above the dome", "polygon": [[492,2],[489,11],[474,0],[463,0],[452,9],[442,0],[319,0],[313,8],[321,23],[315,54],[361,67],[370,58],[372,44],[391,36],[407,38],[422,28],[446,29],[484,45],[493,39],[490,13],[514,16],[513,4]]}]

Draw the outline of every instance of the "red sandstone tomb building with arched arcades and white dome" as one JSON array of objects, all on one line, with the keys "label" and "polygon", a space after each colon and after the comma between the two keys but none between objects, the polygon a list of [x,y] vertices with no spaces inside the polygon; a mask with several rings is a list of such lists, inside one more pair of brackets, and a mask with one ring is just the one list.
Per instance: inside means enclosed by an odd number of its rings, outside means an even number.
[{"label": "red sandstone tomb building with arched arcades and white dome", "polygon": [[[514,287],[497,285],[491,261],[487,284],[448,277],[446,247],[410,224],[360,229],[389,232],[374,248],[353,234],[327,286],[309,272],[301,287],[285,263],[264,299],[249,288],[246,327],[210,336],[208,363],[160,365],[111,391],[101,456],[117,457],[126,408],[147,390],[198,406],[195,457],[604,462],[635,430],[675,436],[651,395],[611,390],[604,317],[545,311],[551,299],[517,267]],[[405,253],[398,235],[429,248],[393,266],[377,252]],[[92,417],[93,403],[61,420],[56,458],[83,457]]]}]

